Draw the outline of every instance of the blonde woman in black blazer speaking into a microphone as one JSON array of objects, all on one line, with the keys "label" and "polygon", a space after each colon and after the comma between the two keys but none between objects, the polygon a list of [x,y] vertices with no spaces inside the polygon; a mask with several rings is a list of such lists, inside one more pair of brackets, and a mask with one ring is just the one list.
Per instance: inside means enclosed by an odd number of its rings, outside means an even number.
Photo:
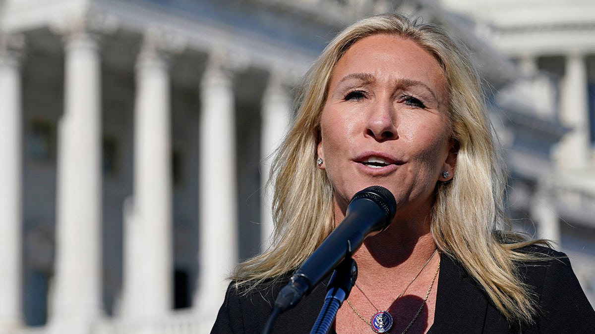
[{"label": "blonde woman in black blazer speaking into a microphone", "polygon": [[[274,246],[237,267],[213,333],[261,332],[289,275],[370,185],[394,194],[397,213],[353,256],[358,281],[337,333],[595,332],[565,255],[509,231],[503,164],[468,53],[439,27],[395,14],[365,18],[327,46],[274,162]],[[308,333],[324,294],[281,314],[274,332]]]}]

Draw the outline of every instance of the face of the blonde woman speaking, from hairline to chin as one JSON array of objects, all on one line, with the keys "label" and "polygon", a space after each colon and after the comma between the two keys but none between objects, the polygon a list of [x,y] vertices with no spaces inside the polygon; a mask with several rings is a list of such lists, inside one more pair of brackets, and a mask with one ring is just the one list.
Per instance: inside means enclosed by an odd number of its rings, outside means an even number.
[{"label": "face of the blonde woman speaking, from hairline to chin", "polygon": [[337,209],[382,185],[397,216],[427,215],[437,182],[454,174],[447,110],[443,70],[415,42],[376,34],[352,45],[334,68],[318,144]]}]

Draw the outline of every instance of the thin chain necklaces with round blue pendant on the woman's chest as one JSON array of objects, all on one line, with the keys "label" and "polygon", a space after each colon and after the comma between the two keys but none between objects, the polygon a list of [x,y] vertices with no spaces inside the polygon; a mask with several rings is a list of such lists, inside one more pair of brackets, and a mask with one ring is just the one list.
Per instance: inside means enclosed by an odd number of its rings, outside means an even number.
[{"label": "thin chain necklaces with round blue pendant on the woman's chest", "polygon": [[[434,250],[434,253],[432,253],[432,255],[430,256],[430,259],[428,259],[428,261],[424,264],[424,266],[419,270],[417,275],[415,275],[414,279],[412,279],[412,281],[409,282],[409,284],[405,287],[403,292],[401,292],[399,294],[399,296],[397,296],[397,298],[395,298],[395,301],[398,300],[403,294],[405,294],[405,291],[409,288],[411,283],[413,283],[413,281],[415,281],[415,279],[419,276],[419,273],[421,273],[421,271],[424,269],[424,267],[427,266],[427,264],[430,262],[430,260],[434,257],[434,254],[436,254],[436,251],[437,250]],[[436,281],[436,277],[438,276],[439,271],[440,271],[440,259],[438,259],[438,266],[436,267],[436,272],[434,273],[434,278],[432,278],[432,282],[430,283],[430,288],[428,288],[428,291],[425,294],[424,300],[421,302],[421,305],[419,306],[417,313],[415,313],[415,316],[413,317],[411,322],[409,322],[409,324],[407,325],[405,330],[403,330],[402,334],[405,334],[409,330],[409,328],[411,328],[411,326],[413,325],[415,320],[417,320],[417,317],[421,313],[421,310],[424,309],[425,302],[428,300],[428,297],[430,296],[430,292],[432,291],[432,287],[434,286],[434,282]],[[347,304],[349,304],[349,306],[351,307],[353,312],[355,312],[355,314],[358,315],[359,319],[364,320],[364,322],[367,323],[368,326],[370,326],[371,329],[374,330],[374,332],[376,332],[376,333],[388,332],[390,330],[390,327],[393,326],[393,317],[390,315],[390,313],[388,311],[378,311],[378,308],[374,305],[374,303],[372,303],[372,301],[368,298],[368,295],[365,294],[365,292],[362,290],[362,288],[360,288],[359,285],[357,285],[357,283],[356,283],[356,286],[358,287],[359,291],[362,292],[364,297],[366,297],[366,299],[369,301],[369,303],[372,304],[372,306],[376,309],[377,312],[374,313],[374,315],[372,316],[370,321],[368,321],[358,312],[358,310],[355,309],[355,307],[353,306],[353,304],[351,304],[351,302],[349,300],[347,300]]]}]

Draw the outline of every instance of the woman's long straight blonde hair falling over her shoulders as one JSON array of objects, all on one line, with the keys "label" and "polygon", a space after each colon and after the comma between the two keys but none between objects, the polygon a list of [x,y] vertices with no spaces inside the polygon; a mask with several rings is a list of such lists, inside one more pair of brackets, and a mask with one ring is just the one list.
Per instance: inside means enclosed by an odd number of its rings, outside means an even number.
[{"label": "woman's long straight blonde hair falling over her shoulders", "polygon": [[333,190],[315,163],[320,115],[335,65],[350,46],[373,34],[395,34],[417,43],[439,62],[449,84],[451,137],[458,155],[455,178],[436,188],[431,215],[434,242],[461,262],[509,321],[533,322],[537,307],[513,261],[536,260],[515,249],[537,241],[510,232],[503,206],[504,164],[470,52],[440,27],[398,14],[375,15],[347,27],[306,73],[296,99],[295,122],[271,170],[273,247],[239,264],[231,278],[237,286],[278,278],[299,267],[332,231]]}]

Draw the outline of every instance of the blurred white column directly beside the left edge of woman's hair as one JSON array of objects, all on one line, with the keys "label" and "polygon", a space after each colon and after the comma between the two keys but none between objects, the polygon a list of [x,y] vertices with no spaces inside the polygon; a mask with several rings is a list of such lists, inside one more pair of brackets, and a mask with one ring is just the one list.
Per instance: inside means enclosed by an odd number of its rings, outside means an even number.
[{"label": "blurred white column directly beside the left edge of woman's hair", "polygon": [[284,83],[284,75],[275,71],[271,74],[267,90],[262,99],[261,133],[261,250],[271,244],[273,234],[273,191],[274,184],[267,184],[275,149],[283,140],[291,116],[291,98]]}]

